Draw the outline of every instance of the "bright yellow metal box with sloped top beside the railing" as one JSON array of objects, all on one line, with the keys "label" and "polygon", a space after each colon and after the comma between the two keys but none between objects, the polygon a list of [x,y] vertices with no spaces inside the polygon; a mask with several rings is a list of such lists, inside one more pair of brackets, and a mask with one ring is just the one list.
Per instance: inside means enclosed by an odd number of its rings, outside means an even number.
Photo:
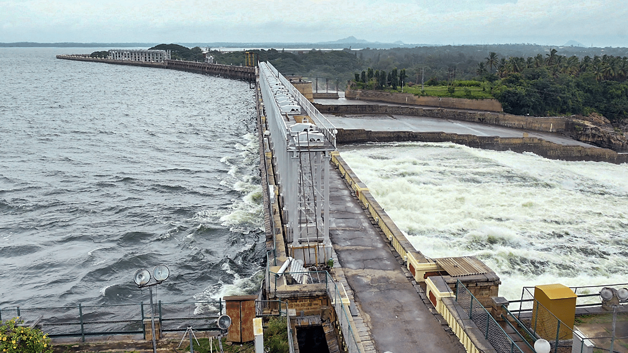
[{"label": "bright yellow metal box with sloped top beside the railing", "polygon": [[568,286],[559,284],[535,286],[532,330],[550,342],[557,338],[573,339],[576,298],[578,296]]}]

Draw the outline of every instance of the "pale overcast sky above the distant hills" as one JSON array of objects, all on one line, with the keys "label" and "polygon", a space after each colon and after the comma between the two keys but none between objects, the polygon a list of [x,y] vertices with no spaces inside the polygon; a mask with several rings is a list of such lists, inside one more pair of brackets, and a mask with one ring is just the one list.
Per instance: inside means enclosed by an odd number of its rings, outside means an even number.
[{"label": "pale overcast sky above the distant hills", "polygon": [[0,0],[0,42],[628,46],[626,0]]}]

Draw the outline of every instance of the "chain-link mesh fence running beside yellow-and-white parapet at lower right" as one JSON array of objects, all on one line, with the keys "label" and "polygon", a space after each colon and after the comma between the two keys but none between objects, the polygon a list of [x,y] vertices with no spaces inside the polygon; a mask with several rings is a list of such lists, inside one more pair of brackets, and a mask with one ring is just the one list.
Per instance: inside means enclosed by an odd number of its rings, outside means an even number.
[{"label": "chain-link mesh fence running beside yellow-and-white parapet at lower right", "polygon": [[523,353],[482,303],[460,281],[456,285],[456,301],[498,353]]}]

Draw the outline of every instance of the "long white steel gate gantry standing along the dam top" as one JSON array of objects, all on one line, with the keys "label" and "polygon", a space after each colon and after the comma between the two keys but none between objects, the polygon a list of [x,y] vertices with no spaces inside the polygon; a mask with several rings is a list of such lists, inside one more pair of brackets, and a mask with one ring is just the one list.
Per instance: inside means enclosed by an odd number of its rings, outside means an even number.
[{"label": "long white steel gate gantry standing along the dam top", "polygon": [[332,255],[329,161],[337,131],[270,63],[259,63],[259,87],[276,159],[288,254],[304,265],[324,263]]}]

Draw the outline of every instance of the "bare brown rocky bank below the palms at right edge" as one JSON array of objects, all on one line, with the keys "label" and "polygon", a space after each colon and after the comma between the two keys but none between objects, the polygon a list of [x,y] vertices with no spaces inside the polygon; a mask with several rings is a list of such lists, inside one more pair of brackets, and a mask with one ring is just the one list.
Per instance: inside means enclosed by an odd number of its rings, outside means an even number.
[{"label": "bare brown rocky bank below the palms at right edge", "polygon": [[613,126],[609,119],[599,114],[571,116],[565,124],[564,133],[570,138],[612,149],[628,152],[628,126]]}]

